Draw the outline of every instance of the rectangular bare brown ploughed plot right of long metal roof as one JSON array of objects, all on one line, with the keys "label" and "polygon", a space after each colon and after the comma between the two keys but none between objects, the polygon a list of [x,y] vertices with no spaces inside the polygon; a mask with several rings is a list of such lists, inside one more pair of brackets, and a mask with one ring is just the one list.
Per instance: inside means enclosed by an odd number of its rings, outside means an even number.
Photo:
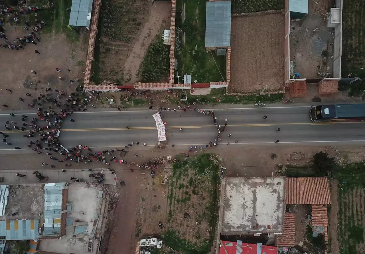
[{"label": "rectangular bare brown ploughed plot right of long metal roof", "polygon": [[230,92],[284,87],[284,14],[250,14],[231,20]]}]

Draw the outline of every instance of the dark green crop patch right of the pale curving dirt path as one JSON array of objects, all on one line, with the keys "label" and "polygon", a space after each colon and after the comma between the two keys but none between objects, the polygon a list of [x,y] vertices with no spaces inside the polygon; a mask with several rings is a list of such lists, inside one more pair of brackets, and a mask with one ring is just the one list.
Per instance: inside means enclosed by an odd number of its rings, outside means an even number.
[{"label": "dark green crop patch right of the pale curving dirt path", "polygon": [[147,49],[145,58],[139,65],[137,75],[142,82],[159,82],[170,68],[170,47],[164,45],[160,33],[156,35]]}]

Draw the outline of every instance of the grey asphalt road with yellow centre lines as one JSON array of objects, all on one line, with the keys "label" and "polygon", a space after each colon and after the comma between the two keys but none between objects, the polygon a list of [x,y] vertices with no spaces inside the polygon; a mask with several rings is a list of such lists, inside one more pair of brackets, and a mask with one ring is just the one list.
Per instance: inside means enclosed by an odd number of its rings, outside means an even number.
[{"label": "grey asphalt road with yellow centre lines", "polygon": [[[231,105],[229,105],[231,106]],[[300,143],[365,143],[364,122],[313,123],[309,118],[310,105],[266,105],[264,107],[246,106],[242,108],[212,108],[218,118],[218,124],[228,119],[226,131],[221,133],[223,143],[238,145]],[[132,141],[146,143],[147,148],[157,144],[157,130],[152,114],[153,110],[88,111],[73,114],[75,122],[65,121],[60,140],[65,147],[77,144],[89,147],[122,147]],[[27,114],[27,113],[23,113]],[[34,117],[35,114],[28,114]],[[267,115],[264,119],[263,116]],[[167,122],[168,144],[203,145],[214,141],[217,130],[212,118],[197,111],[163,111],[162,119]],[[0,127],[5,132],[5,121],[16,121],[20,126],[21,115],[11,117],[0,114]],[[130,126],[130,129],[126,129]],[[183,131],[179,131],[183,128]],[[280,132],[275,130],[280,128]],[[30,139],[23,137],[26,132],[10,131],[12,145],[0,143],[0,153],[27,152],[26,144]],[[232,134],[228,137],[228,134]],[[22,150],[14,150],[19,146]]]}]

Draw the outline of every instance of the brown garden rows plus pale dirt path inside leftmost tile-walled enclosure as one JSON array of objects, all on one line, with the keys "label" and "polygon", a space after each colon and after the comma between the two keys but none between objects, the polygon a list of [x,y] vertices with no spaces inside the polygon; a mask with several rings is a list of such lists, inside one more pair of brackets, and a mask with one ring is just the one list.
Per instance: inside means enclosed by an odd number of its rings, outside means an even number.
[{"label": "brown garden rows plus pale dirt path inside leftmost tile-walled enclosure", "polygon": [[[171,3],[147,0],[111,0],[102,6],[100,48],[92,81],[133,85],[139,65],[162,24],[170,23]],[[168,46],[166,46],[168,47]],[[98,52],[99,51],[99,52]]]}]

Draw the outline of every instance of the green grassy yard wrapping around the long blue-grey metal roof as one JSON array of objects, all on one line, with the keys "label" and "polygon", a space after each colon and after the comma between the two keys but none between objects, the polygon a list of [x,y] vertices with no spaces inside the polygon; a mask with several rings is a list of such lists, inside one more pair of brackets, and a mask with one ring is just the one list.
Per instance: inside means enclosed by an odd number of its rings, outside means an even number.
[{"label": "green grassy yard wrapping around the long blue-grey metal roof", "polygon": [[[191,80],[196,79],[197,83],[225,81],[226,56],[217,56],[216,52],[205,50],[205,12],[206,1],[176,1],[177,73],[179,76],[191,74]],[[183,16],[184,21],[182,21]],[[175,83],[183,81],[183,78],[178,80],[175,77]]]}]

